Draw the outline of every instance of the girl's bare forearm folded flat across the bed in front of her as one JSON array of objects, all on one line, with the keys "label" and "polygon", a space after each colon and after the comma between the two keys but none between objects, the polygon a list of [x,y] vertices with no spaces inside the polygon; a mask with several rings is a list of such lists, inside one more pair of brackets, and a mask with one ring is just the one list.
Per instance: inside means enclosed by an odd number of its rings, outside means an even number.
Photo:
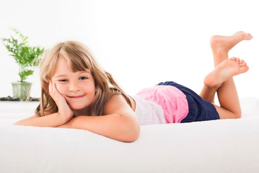
[{"label": "girl's bare forearm folded flat across the bed in front of her", "polygon": [[133,123],[132,119],[117,114],[105,116],[78,116],[58,128],[89,130],[124,142],[136,140],[140,130],[139,125]]}]

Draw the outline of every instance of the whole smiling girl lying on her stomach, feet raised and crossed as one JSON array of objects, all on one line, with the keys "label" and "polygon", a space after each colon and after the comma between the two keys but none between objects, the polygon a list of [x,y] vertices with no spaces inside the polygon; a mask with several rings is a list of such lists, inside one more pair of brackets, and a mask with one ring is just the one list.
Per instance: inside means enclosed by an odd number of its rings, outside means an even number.
[{"label": "whole smiling girl lying on her stomach, feet raised and crossed", "polygon": [[[253,37],[244,32],[213,36],[215,69],[204,79],[200,96],[168,81],[127,95],[78,42],[58,43],[39,63],[41,99],[35,116],[14,125],[90,130],[115,140],[138,138],[140,125],[240,118],[233,76],[248,71],[244,60],[228,51]],[[221,106],[214,104],[215,93]]]}]

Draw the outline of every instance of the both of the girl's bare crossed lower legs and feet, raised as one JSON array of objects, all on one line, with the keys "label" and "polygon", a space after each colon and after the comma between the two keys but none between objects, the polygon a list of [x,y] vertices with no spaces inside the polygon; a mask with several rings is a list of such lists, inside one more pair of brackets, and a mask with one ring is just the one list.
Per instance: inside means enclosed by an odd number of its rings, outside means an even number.
[{"label": "both of the girl's bare crossed lower legs and feet, raised", "polygon": [[[241,108],[233,81],[233,76],[244,73],[248,66],[238,58],[228,59],[228,51],[242,40],[251,40],[252,36],[244,32],[237,32],[232,36],[213,36],[211,47],[214,56],[215,70],[204,80],[205,86],[201,91],[201,97],[214,103],[215,92],[221,106],[216,106],[221,119],[240,118]],[[223,62],[224,61],[224,62]],[[238,63],[237,63],[238,62]],[[219,67],[218,67],[219,65]]]}]

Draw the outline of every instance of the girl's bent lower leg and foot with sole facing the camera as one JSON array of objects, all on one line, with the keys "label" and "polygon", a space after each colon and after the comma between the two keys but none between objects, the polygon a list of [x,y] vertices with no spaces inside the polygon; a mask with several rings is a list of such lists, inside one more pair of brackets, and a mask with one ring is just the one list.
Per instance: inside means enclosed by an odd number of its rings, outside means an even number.
[{"label": "girl's bent lower leg and foot with sole facing the camera", "polygon": [[217,93],[221,106],[215,105],[215,107],[221,119],[241,117],[241,108],[233,76],[245,73],[248,70],[249,67],[244,60],[233,57],[225,59],[205,77],[205,86],[209,88],[219,87]]}]

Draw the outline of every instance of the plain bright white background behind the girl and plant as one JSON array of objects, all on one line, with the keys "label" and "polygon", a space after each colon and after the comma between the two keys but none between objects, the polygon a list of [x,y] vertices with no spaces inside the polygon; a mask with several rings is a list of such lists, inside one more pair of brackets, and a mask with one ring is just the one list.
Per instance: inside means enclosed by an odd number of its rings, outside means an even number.
[{"label": "plain bright white background behind the girl and plant", "polygon": [[[234,77],[240,97],[259,96],[259,10],[256,1],[226,0],[5,0],[0,1],[0,38],[15,27],[31,45],[49,48],[76,40],[130,95],[175,81],[199,93],[213,70],[210,37],[251,33],[229,56],[245,59],[246,74]],[[0,97],[12,96],[18,65],[0,43]],[[40,96],[38,69],[27,79]]]}]

